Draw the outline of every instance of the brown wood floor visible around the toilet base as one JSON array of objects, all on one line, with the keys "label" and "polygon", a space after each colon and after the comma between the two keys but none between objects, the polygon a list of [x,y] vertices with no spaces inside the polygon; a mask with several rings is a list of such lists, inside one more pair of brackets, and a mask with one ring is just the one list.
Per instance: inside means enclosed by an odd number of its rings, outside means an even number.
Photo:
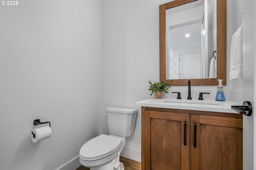
[{"label": "brown wood floor visible around the toilet base", "polygon": [[[130,160],[120,156],[120,162],[124,164],[124,170],[141,170],[140,162],[137,162],[135,160]],[[80,166],[76,170],[89,170],[89,168]]]}]

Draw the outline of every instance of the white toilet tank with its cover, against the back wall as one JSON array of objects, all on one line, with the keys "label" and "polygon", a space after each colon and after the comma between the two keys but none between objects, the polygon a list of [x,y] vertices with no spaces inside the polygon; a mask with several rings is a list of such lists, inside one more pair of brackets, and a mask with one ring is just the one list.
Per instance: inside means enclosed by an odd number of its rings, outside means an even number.
[{"label": "white toilet tank with its cover, against the back wall", "polygon": [[112,135],[128,137],[132,135],[137,109],[124,107],[107,107],[106,113],[108,116],[108,131]]}]

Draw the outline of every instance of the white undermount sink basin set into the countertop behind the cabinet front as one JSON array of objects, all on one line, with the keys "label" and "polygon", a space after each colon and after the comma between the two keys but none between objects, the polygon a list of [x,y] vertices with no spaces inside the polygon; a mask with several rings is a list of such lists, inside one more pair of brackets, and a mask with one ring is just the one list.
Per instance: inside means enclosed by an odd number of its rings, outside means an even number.
[{"label": "white undermount sink basin set into the countertop behind the cabinet front", "polygon": [[218,105],[224,106],[224,104],[218,101],[212,100],[178,100],[178,99],[166,99],[162,103],[170,103],[170,104],[195,104],[195,105]]}]

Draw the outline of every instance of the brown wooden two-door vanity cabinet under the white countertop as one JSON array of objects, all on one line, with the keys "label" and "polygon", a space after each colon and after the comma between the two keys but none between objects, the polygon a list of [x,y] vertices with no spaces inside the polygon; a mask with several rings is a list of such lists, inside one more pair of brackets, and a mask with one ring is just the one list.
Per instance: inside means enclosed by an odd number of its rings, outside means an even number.
[{"label": "brown wooden two-door vanity cabinet under the white countertop", "polygon": [[242,115],[142,107],[142,170],[242,170]]}]

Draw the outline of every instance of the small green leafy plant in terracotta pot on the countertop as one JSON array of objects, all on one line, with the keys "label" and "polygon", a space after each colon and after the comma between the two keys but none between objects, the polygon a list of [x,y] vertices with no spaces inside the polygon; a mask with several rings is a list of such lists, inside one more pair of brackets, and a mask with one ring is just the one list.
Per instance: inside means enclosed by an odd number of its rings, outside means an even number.
[{"label": "small green leafy plant in terracotta pot on the countertop", "polygon": [[164,83],[162,82],[154,82],[152,83],[151,81],[148,82],[150,85],[149,87],[149,91],[151,92],[150,96],[152,96],[153,93],[156,94],[156,98],[162,98],[162,94],[164,93],[168,93],[168,90],[170,88],[170,85],[167,85],[166,82]]}]

